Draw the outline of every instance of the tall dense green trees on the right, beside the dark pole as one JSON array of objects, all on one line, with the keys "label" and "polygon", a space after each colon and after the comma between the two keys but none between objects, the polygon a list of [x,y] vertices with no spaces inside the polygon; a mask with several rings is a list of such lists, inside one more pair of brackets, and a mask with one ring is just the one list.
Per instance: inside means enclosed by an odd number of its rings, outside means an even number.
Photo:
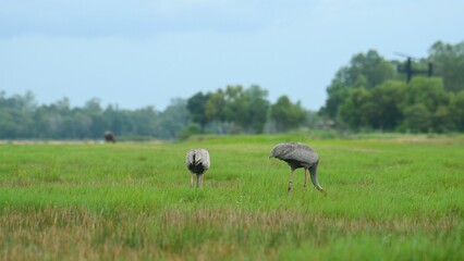
[{"label": "tall dense green trees on the right, beside the dark pole", "polygon": [[[430,55],[434,77],[414,76],[410,83],[376,51],[356,54],[335,74],[319,113],[352,129],[401,132],[464,130],[464,42],[435,44]],[[420,67],[422,66],[422,67]]]}]

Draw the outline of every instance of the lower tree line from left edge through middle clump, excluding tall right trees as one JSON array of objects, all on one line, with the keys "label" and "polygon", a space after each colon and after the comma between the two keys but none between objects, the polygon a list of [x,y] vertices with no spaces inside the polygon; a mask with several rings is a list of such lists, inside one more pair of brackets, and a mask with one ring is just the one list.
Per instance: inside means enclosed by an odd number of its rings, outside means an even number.
[{"label": "lower tree line from left edge through middle clump, excluding tall right trees", "polygon": [[[274,104],[268,91],[254,85],[227,86],[213,92],[198,92],[188,99],[173,99],[163,110],[136,110],[90,99],[71,108],[63,98],[38,104],[33,92],[7,96],[0,92],[0,139],[102,139],[106,130],[117,139],[179,139],[192,134],[285,132],[314,123],[315,112],[282,96]],[[313,117],[312,117],[313,116]]]}]

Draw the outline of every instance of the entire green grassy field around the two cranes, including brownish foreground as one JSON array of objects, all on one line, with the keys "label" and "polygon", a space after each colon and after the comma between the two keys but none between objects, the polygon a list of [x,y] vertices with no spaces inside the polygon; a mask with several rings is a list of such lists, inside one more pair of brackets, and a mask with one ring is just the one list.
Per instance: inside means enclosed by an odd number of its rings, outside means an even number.
[{"label": "entire green grassy field around the two cranes, including brownish foreground", "polygon": [[[272,147],[321,158],[286,192]],[[190,148],[211,156],[190,187]],[[464,137],[0,145],[0,260],[464,260]]]}]

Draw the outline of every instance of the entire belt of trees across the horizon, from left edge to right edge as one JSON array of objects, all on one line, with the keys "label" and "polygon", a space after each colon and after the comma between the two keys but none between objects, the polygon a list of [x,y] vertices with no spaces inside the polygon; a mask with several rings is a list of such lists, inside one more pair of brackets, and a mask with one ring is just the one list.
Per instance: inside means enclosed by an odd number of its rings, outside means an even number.
[{"label": "entire belt of trees across the horizon, from left edge to right edge", "polygon": [[[406,83],[400,61],[388,61],[369,50],[352,58],[328,86],[326,104],[305,110],[300,101],[281,96],[274,103],[260,86],[225,86],[173,99],[163,111],[118,105],[102,108],[91,99],[71,108],[63,98],[38,104],[34,94],[0,92],[0,139],[101,139],[112,130],[119,139],[185,139],[190,135],[283,133],[297,128],[339,132],[451,133],[464,130],[464,42],[436,42],[429,57],[413,61],[415,75]],[[284,87],[284,86],[282,86]]]}]

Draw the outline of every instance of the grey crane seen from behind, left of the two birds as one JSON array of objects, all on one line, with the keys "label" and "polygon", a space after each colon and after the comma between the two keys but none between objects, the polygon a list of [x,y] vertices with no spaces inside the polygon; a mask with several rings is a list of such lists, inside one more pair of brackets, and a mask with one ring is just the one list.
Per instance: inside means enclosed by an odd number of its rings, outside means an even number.
[{"label": "grey crane seen from behind, left of the two birds", "polygon": [[196,187],[202,187],[203,175],[210,165],[209,152],[206,149],[192,149],[187,152],[185,163],[191,172],[191,186],[193,186],[193,176],[196,174]]}]

